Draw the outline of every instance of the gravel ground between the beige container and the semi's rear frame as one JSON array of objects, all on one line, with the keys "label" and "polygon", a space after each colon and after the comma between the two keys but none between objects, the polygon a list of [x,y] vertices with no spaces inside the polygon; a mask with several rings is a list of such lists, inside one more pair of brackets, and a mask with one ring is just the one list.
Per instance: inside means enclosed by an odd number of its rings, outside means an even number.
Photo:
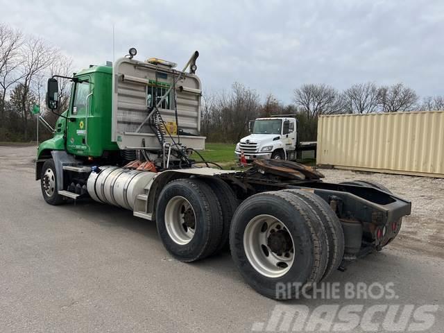
[{"label": "gravel ground between the beige container and the semi's rear frame", "polygon": [[411,215],[402,220],[396,246],[444,257],[444,178],[413,177],[321,169],[327,182],[372,180],[411,200]]}]

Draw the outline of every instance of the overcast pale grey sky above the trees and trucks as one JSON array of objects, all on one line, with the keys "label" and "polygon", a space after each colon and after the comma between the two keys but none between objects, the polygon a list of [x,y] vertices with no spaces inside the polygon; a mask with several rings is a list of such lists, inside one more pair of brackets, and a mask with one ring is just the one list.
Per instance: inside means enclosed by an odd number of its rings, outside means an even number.
[{"label": "overcast pale grey sky above the trees and trucks", "polygon": [[[49,4],[51,3],[51,5]],[[204,90],[237,81],[289,103],[303,83],[344,89],[403,82],[444,94],[444,1],[11,1],[0,22],[39,35],[74,69],[138,50],[185,64],[200,52]]]}]

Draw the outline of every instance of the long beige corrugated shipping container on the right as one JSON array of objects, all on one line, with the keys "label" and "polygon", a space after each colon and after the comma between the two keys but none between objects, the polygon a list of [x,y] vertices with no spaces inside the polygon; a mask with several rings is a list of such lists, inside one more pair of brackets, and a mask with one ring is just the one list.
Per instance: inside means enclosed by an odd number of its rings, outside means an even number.
[{"label": "long beige corrugated shipping container on the right", "polygon": [[321,116],[316,163],[444,178],[444,111]]}]

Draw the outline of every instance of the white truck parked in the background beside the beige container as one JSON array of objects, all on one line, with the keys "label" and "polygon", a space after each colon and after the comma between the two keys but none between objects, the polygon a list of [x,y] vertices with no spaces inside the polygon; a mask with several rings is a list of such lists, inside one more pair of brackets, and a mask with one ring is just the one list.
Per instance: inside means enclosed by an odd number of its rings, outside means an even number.
[{"label": "white truck parked in the background beside the beige container", "polygon": [[298,120],[291,116],[271,116],[250,121],[250,135],[236,145],[237,158],[241,153],[247,161],[290,160],[295,161],[302,151],[315,151],[316,142],[299,142]]}]

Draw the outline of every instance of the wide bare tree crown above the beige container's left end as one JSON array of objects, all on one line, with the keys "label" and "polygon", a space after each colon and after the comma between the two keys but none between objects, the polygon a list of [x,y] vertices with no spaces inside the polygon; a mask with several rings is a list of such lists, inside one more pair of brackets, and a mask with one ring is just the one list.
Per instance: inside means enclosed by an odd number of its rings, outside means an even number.
[{"label": "wide bare tree crown above the beige container's left end", "polygon": [[343,112],[343,98],[329,85],[306,84],[294,90],[293,101],[305,112],[307,119],[316,119],[321,114]]}]

